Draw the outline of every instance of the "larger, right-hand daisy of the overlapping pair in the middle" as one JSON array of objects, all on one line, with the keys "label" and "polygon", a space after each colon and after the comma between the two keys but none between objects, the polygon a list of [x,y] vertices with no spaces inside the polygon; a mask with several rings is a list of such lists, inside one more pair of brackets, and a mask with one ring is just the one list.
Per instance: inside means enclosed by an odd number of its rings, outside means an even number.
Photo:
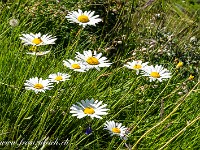
[{"label": "larger, right-hand daisy of the overlapping pair in the middle", "polygon": [[80,54],[77,52],[76,59],[83,61],[85,65],[89,69],[96,68],[99,70],[100,67],[109,67],[112,63],[108,63],[108,60],[106,57],[101,57],[102,53],[97,54],[96,51],[94,51],[94,54],[92,54],[91,50],[84,51],[83,54]]}]

